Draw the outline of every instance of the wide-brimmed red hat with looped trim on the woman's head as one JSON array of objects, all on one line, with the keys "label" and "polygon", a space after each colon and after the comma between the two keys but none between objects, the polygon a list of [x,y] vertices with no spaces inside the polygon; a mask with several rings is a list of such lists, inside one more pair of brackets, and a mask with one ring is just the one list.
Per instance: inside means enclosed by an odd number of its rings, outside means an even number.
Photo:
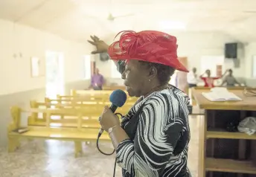
[{"label": "wide-brimmed red hat with looped trim on the woman's head", "polygon": [[108,53],[111,59],[137,59],[155,62],[188,72],[188,69],[179,62],[177,57],[178,45],[175,36],[156,30],[143,30],[138,33],[125,30],[120,33],[122,34],[119,41],[109,46]]}]

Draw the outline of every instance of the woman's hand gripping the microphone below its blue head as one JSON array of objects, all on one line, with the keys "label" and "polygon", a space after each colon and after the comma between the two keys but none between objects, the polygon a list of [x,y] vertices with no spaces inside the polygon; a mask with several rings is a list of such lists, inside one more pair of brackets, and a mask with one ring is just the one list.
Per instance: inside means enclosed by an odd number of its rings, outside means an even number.
[{"label": "woman's hand gripping the microphone below its blue head", "polygon": [[120,120],[117,115],[115,115],[108,106],[105,106],[102,115],[100,116],[100,125],[101,128],[106,132],[109,131],[109,128],[113,126],[120,126]]}]

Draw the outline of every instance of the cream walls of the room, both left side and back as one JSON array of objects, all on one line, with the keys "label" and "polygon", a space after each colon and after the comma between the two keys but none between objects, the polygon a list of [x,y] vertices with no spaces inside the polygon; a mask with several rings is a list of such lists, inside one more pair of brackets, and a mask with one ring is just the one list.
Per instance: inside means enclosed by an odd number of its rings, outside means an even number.
[{"label": "cream walls of the room, both left side and back", "polygon": [[[225,42],[236,42],[231,36],[218,32],[171,34],[177,36],[179,57],[188,57],[189,68],[196,67],[199,72],[202,72],[200,71],[202,56],[223,55]],[[113,38],[109,36],[109,39]],[[51,33],[0,20],[0,94],[44,88],[45,77],[31,78],[30,59],[31,57],[45,58],[47,50],[64,53],[65,83],[82,80],[82,56],[89,54],[92,48],[87,42],[71,42]],[[240,60],[240,68],[234,69],[235,76],[251,77],[250,61],[255,54],[255,49],[256,43],[246,45],[246,55]],[[19,55],[19,53],[22,57],[13,57],[13,54]],[[97,68],[108,80],[107,83],[123,83],[120,79],[111,78],[111,61],[100,62],[97,56],[95,60]],[[225,62],[225,68],[233,68],[231,60]]]}]

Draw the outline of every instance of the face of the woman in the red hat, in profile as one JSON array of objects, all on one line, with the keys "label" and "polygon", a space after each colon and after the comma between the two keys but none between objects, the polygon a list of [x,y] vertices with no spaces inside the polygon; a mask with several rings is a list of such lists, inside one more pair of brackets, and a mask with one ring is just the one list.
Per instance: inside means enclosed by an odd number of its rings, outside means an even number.
[{"label": "face of the woman in the red hat, in profile", "polygon": [[150,71],[145,65],[141,65],[138,60],[130,59],[125,66],[125,71],[122,74],[124,86],[130,97],[141,97],[147,94],[150,89]]}]

